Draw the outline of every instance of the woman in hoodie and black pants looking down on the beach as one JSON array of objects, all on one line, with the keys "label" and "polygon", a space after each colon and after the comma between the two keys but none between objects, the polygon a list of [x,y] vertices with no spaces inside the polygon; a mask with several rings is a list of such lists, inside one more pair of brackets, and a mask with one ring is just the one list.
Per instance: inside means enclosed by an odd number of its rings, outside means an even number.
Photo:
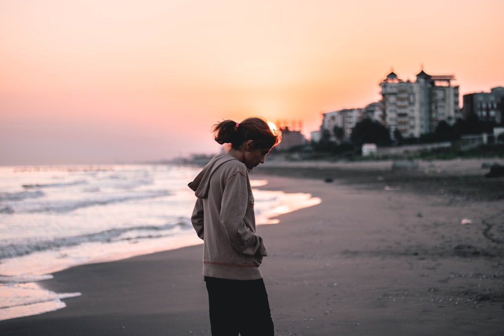
[{"label": "woman in hoodie and black pants looking down on the beach", "polygon": [[248,171],[264,163],[281,135],[261,118],[224,120],[213,127],[216,155],[189,187],[198,197],[192,223],[204,240],[203,276],[214,336],[273,335],[268,295],[259,270],[267,255],[256,234],[254,196]]}]

